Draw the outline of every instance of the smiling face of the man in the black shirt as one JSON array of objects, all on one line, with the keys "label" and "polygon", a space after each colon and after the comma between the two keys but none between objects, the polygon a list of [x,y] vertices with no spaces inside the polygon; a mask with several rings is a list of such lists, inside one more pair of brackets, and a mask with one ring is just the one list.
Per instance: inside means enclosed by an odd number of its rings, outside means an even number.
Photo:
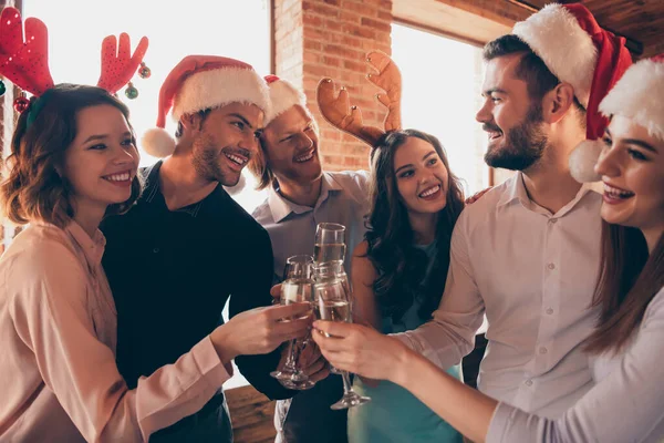
[{"label": "smiling face of the man in the black shirt", "polygon": [[235,186],[258,152],[263,112],[255,104],[230,103],[209,111],[194,134],[196,173],[209,182]]}]

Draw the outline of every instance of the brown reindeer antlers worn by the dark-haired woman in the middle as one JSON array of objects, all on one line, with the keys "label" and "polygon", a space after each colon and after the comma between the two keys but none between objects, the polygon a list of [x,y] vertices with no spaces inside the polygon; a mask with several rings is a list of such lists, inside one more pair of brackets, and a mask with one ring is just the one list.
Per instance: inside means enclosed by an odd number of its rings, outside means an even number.
[{"label": "brown reindeer antlers worn by the dark-haired woman in the middle", "polygon": [[342,86],[339,94],[336,94],[336,87],[332,79],[325,78],[319,82],[317,101],[321,114],[332,126],[360,138],[371,146],[375,146],[383,134],[388,131],[402,128],[402,78],[394,61],[383,52],[369,52],[366,54],[366,62],[377,71],[377,73],[371,73],[366,78],[370,82],[385,91],[384,94],[376,95],[378,101],[387,107],[383,130],[365,125],[360,109],[350,105],[347,91]]}]

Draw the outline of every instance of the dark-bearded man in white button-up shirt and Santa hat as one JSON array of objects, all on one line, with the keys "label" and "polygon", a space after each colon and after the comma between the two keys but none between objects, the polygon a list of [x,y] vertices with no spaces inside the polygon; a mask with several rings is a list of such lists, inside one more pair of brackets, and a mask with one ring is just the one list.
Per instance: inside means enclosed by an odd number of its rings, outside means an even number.
[{"label": "dark-bearded man in white button-up shirt and Santa hat", "polygon": [[568,159],[601,135],[598,104],[630,58],[624,39],[593,43],[596,29],[584,7],[552,4],[485,47],[485,161],[518,173],[464,210],[439,309],[397,334],[448,368],[473,350],[486,313],[479,390],[548,418],[592,385],[582,344],[598,313],[602,197]]}]

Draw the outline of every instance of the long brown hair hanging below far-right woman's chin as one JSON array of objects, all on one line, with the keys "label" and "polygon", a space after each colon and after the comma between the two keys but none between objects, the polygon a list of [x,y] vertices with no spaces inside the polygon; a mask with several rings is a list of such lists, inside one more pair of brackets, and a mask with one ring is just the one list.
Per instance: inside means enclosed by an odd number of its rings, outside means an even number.
[{"label": "long brown hair hanging below far-right woman's chin", "polygon": [[664,236],[649,256],[640,229],[602,223],[602,264],[592,306],[600,318],[585,349],[619,352],[664,287]]}]

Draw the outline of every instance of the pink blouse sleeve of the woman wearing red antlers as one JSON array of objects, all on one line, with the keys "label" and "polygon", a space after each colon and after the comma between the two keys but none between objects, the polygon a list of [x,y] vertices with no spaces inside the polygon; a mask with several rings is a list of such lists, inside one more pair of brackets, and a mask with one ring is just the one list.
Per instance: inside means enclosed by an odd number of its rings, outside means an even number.
[{"label": "pink blouse sleeve of the woman wearing red antlers", "polygon": [[[176,363],[129,391],[115,356],[97,337],[89,275],[60,244],[42,244],[38,260],[15,260],[11,318],[52,390],[89,442],[147,441],[193,414],[229,378],[209,337]],[[111,312],[110,315],[114,315]]]}]

